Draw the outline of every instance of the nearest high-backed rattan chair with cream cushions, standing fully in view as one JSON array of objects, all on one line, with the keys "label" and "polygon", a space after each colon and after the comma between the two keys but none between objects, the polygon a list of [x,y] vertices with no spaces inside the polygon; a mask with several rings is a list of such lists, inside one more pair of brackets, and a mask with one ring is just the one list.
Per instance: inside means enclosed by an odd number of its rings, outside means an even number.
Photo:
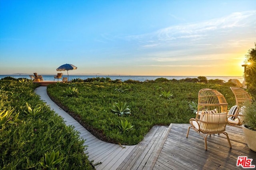
[{"label": "nearest high-backed rattan chair with cream cushions, standing fully in view", "polygon": [[199,135],[204,137],[204,149],[207,150],[207,137],[211,134],[223,133],[228,139],[228,144],[231,148],[231,143],[226,133],[226,124],[228,103],[224,96],[217,90],[209,88],[201,89],[198,92],[198,111],[196,118],[191,118],[188,127],[187,135],[190,128],[194,129]]}]

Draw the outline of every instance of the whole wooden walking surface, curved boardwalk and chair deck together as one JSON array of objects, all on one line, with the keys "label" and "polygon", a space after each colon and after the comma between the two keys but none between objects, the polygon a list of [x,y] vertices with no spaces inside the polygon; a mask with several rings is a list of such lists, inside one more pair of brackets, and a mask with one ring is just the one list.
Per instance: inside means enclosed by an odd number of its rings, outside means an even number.
[{"label": "whole wooden walking surface, curved boardwalk and chair deck together", "polygon": [[208,137],[208,150],[204,150],[204,139],[190,129],[189,124],[170,124],[169,127],[154,126],[138,145],[119,146],[100,141],[89,133],[68,113],[58,107],[47,95],[46,86],[36,88],[41,96],[67,125],[74,125],[80,137],[86,139],[89,160],[102,162],[97,170],[190,170],[190,169],[243,169],[236,166],[238,156],[248,156],[256,165],[256,152],[247,147],[241,128],[227,126],[232,149],[226,137],[212,135]]}]

